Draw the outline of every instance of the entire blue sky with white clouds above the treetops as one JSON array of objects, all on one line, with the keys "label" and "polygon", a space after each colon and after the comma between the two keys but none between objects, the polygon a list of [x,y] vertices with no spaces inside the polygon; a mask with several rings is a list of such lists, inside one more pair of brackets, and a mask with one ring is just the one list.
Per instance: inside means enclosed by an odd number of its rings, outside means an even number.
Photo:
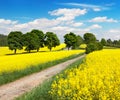
[{"label": "entire blue sky with white clouds above the treetops", "polygon": [[120,39],[119,0],[0,0],[0,34],[52,31]]}]

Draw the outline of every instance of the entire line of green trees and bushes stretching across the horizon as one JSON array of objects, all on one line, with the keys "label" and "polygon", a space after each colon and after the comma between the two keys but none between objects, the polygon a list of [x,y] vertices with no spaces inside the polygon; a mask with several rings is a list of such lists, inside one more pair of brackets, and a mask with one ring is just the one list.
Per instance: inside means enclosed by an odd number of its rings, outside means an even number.
[{"label": "entire line of green trees and bushes stretching across the horizon", "polygon": [[[83,37],[73,32],[67,33],[64,35],[64,43],[68,50],[78,49],[81,44],[85,43],[87,44],[87,54],[92,51],[101,50],[103,46],[120,47],[120,40],[112,41],[111,39],[105,40],[102,38],[101,41],[98,41],[93,33],[85,33]],[[44,34],[41,30],[33,29],[25,34],[20,31],[12,31],[8,36],[0,35],[0,46],[7,45],[10,50],[14,50],[14,53],[17,50],[23,49],[23,46],[28,52],[31,52],[31,50],[38,52],[44,46],[47,46],[51,51],[53,47],[60,45],[60,40],[53,32],[46,32]]]}]

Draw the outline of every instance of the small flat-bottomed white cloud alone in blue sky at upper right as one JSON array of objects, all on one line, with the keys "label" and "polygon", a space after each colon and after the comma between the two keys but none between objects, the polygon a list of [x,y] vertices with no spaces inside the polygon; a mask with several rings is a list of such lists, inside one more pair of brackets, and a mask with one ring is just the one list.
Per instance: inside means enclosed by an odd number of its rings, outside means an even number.
[{"label": "small flat-bottomed white cloud alone in blue sky at upper right", "polygon": [[104,16],[104,17],[95,17],[95,18],[89,20],[89,22],[110,22],[110,23],[116,23],[118,21],[113,19],[113,18],[108,19],[106,16]]}]

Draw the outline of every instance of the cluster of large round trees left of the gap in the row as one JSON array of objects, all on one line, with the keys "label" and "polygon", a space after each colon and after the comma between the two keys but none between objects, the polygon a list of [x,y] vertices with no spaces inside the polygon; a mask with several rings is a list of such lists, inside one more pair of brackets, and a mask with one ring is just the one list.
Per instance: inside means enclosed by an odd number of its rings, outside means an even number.
[{"label": "cluster of large round trees left of the gap in the row", "polygon": [[47,46],[51,51],[52,47],[60,44],[57,35],[53,32],[44,34],[42,31],[35,29],[26,34],[22,34],[20,31],[10,32],[7,40],[9,49],[14,50],[14,53],[16,53],[17,49],[23,49],[23,46],[26,47],[25,50],[28,52],[31,52],[31,50],[37,50],[38,52],[44,46]]}]

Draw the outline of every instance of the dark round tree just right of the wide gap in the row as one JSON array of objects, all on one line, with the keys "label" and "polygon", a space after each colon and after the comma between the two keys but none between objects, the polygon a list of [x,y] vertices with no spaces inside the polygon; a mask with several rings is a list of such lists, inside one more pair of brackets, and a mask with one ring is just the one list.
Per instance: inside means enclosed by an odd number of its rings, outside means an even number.
[{"label": "dark round tree just right of the wide gap in the row", "polygon": [[77,43],[77,36],[72,32],[70,32],[69,34],[65,34],[64,43],[66,44],[66,47],[68,48],[68,50],[70,48],[75,48]]}]

